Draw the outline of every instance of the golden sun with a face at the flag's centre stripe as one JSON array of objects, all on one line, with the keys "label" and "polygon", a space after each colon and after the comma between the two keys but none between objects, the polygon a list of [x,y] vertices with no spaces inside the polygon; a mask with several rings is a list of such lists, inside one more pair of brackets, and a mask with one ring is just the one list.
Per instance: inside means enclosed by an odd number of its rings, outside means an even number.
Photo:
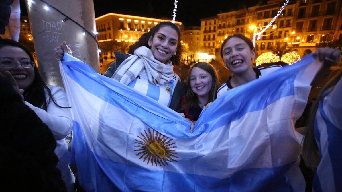
[{"label": "golden sun with a face at the flag's centre stripe", "polygon": [[[135,139],[135,143],[138,143],[139,145],[135,145],[134,147],[136,148],[140,148],[140,149],[136,149],[134,151],[140,151],[139,153],[137,153],[136,155],[141,155],[139,157],[139,159],[144,157],[144,162],[147,159],[147,165],[148,163],[151,161],[151,165],[153,166],[154,164],[156,166],[157,163],[161,166],[161,164],[163,164],[165,166],[165,164],[168,164],[168,161],[176,161],[174,159],[172,159],[172,157],[178,158],[176,155],[178,155],[178,153],[175,153],[174,151],[176,151],[175,146],[172,146],[175,144],[175,142],[170,143],[173,139],[170,139],[169,137],[166,137],[160,133],[158,133],[157,131],[155,131],[154,129],[152,129],[152,133],[150,131],[150,129],[148,129],[148,133],[145,130],[145,135],[143,133],[140,132],[140,135],[142,137],[139,137],[139,139],[141,140],[137,140]],[[165,163],[165,164],[164,164]]]}]

